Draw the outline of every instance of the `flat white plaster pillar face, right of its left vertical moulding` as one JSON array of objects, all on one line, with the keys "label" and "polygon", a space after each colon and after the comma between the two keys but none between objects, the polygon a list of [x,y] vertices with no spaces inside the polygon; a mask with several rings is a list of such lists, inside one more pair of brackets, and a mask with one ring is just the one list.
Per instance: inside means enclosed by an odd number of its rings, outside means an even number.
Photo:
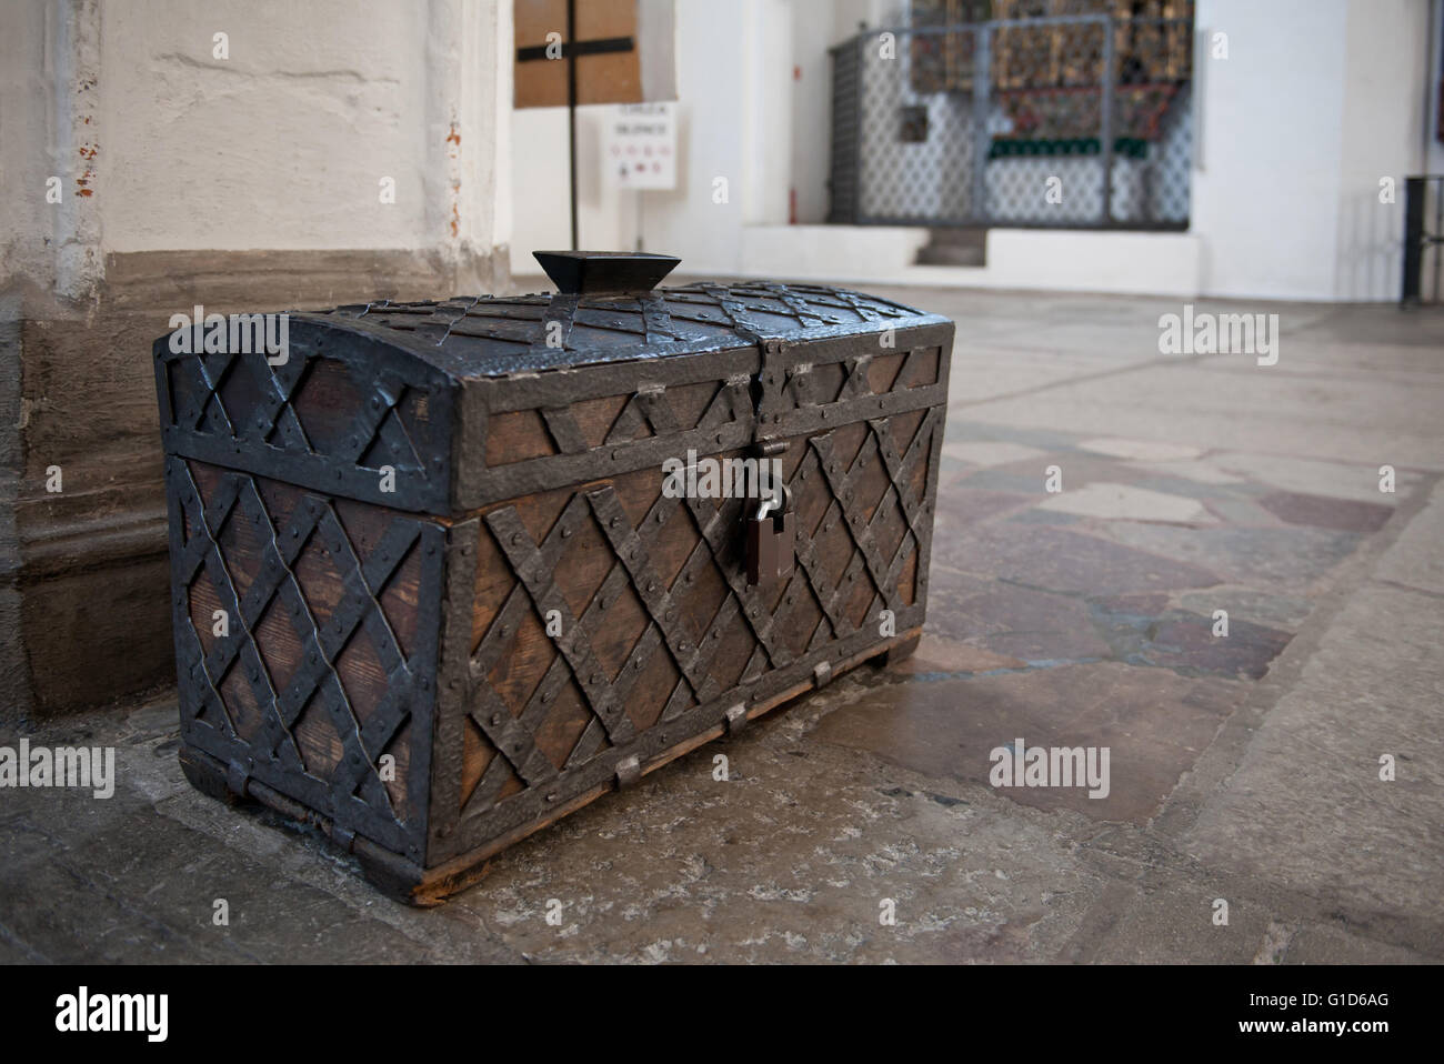
[{"label": "flat white plaster pillar face, right of its left vertical moulding", "polygon": [[508,3],[104,4],[105,250],[504,243],[503,42]]}]

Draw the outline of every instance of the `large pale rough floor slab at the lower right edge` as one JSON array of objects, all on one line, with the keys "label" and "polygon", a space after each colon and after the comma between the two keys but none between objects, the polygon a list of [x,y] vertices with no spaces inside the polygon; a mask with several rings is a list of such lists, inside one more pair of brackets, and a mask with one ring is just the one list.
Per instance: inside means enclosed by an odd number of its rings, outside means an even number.
[{"label": "large pale rough floor slab at the lower right edge", "polygon": [[[1365,910],[1441,915],[1444,601],[1363,586],[1184,843]],[[1380,780],[1380,756],[1396,778]]]}]

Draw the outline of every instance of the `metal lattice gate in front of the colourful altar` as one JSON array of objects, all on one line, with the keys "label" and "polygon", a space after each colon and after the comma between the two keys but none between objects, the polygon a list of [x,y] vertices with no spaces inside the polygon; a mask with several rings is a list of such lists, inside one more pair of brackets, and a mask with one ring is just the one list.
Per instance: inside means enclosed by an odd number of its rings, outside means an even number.
[{"label": "metal lattice gate in front of the colourful altar", "polygon": [[1193,19],[864,30],[832,56],[832,222],[1188,225]]}]

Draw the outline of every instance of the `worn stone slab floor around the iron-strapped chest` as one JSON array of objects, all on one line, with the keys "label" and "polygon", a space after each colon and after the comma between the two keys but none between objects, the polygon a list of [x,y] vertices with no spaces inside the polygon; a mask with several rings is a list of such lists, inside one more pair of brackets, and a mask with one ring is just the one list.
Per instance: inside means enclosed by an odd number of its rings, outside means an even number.
[{"label": "worn stone slab floor around the iron-strapped chest", "polygon": [[[30,729],[120,782],[0,791],[0,960],[1444,960],[1444,313],[1197,303],[1278,313],[1261,367],[1161,355],[1167,300],[890,295],[959,322],[914,658],[432,911],[192,791],[173,705]],[[1106,797],[991,785],[1018,739]]]}]

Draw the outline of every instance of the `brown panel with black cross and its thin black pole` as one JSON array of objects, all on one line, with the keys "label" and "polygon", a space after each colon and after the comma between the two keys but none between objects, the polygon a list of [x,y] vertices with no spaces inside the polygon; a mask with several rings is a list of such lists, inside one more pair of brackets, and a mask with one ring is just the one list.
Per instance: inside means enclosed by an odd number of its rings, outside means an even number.
[{"label": "brown panel with black cross and its thin black pole", "polygon": [[641,101],[637,3],[517,0],[516,25],[516,105],[566,104],[572,250],[576,251],[576,107]]}]

